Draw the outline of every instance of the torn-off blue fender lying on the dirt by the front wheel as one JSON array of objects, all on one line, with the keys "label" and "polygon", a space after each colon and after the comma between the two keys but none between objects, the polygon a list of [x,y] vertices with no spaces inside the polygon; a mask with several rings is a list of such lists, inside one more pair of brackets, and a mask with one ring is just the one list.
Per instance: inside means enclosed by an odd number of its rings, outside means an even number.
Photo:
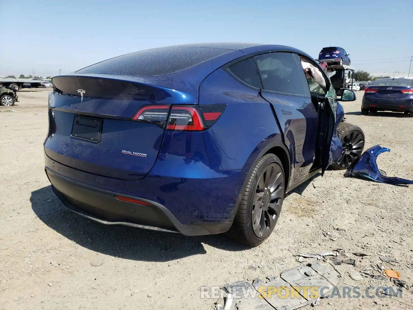
[{"label": "torn-off blue fender lying on the dirt by the front wheel", "polygon": [[386,176],[386,172],[377,167],[377,156],[384,152],[390,152],[388,148],[382,148],[380,145],[375,145],[361,155],[359,160],[347,169],[344,177],[361,176],[372,181],[387,184],[413,184],[413,181],[401,179],[395,176]]}]

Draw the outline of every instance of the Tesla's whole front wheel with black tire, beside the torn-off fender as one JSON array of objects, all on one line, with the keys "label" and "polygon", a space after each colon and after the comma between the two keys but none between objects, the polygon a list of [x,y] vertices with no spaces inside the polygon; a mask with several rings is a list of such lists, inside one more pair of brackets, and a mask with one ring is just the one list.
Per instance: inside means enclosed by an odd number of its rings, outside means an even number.
[{"label": "Tesla's whole front wheel with black tire, beside the torn-off fender", "polygon": [[337,131],[343,144],[343,155],[330,168],[333,170],[344,170],[353,165],[361,156],[366,139],[363,130],[353,124],[340,123],[337,126]]}]

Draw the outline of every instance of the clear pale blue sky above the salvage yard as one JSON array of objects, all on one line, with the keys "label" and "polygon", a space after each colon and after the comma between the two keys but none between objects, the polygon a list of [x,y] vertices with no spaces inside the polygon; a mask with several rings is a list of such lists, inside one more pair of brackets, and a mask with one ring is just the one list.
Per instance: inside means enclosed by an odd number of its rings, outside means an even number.
[{"label": "clear pale blue sky above the salvage yard", "polygon": [[0,76],[65,74],[137,50],[215,41],[291,45],[313,57],[341,46],[356,69],[407,72],[412,10],[412,0],[0,0]]}]

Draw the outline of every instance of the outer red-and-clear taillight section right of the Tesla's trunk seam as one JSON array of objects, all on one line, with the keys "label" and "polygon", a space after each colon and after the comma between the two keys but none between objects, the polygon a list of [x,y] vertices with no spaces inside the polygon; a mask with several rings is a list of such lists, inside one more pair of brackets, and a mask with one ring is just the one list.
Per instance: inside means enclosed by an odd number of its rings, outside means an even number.
[{"label": "outer red-and-clear taillight section right of the Tesla's trunk seam", "polygon": [[195,107],[178,105],[172,107],[166,129],[201,131],[204,124]]}]

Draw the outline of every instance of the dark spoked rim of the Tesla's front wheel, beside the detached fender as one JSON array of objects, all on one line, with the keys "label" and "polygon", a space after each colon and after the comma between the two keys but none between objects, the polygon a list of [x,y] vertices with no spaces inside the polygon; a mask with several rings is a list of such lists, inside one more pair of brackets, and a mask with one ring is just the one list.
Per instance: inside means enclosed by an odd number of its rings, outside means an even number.
[{"label": "dark spoked rim of the Tesla's front wheel, beside the detached fender", "polygon": [[337,166],[341,168],[348,168],[353,164],[364,148],[364,138],[360,131],[350,131],[342,138],[343,155]]}]

